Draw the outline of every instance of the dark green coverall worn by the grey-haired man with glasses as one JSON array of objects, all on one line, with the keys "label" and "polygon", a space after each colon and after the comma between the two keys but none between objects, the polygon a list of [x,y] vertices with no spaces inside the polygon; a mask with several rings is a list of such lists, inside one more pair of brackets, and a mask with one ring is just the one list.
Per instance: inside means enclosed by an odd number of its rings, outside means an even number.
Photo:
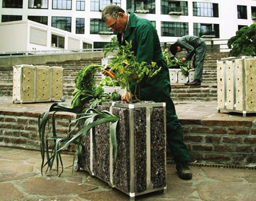
[{"label": "dark green coverall worn by the grey-haired man with glasses", "polygon": [[[178,121],[175,106],[170,97],[171,84],[169,69],[163,59],[157,30],[149,20],[137,17],[130,12],[128,27],[123,35],[117,34],[119,43],[125,45],[125,40],[132,41],[132,50],[139,62],[151,63],[162,66],[161,71],[153,78],[143,78],[140,82],[140,100],[153,100],[166,103],[167,142],[177,162],[189,161],[189,150],[183,140],[182,127]],[[121,41],[122,40],[122,41]],[[134,92],[135,83],[130,88]]]}]

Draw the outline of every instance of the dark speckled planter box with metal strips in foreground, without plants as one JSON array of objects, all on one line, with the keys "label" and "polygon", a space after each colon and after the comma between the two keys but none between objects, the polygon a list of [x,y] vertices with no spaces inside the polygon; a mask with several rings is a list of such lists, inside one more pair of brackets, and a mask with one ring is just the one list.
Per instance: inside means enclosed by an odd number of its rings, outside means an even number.
[{"label": "dark speckled planter box with metal strips in foreground, without plants", "polygon": [[116,162],[108,135],[109,124],[102,124],[95,127],[95,140],[92,132],[82,139],[82,157],[75,163],[75,169],[82,167],[129,195],[130,200],[137,195],[165,191],[165,103],[103,103],[98,109],[119,117]]}]

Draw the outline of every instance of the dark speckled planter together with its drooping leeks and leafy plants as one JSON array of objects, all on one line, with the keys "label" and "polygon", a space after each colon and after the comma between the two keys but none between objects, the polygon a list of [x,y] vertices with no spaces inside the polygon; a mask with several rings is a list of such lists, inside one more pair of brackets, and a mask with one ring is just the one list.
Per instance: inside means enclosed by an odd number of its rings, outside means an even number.
[{"label": "dark speckled planter together with its drooping leeks and leafy plants", "polygon": [[[112,58],[109,68],[112,78],[127,92],[130,92],[131,82],[136,83],[136,92],[140,90],[137,85],[144,76],[154,76],[160,70],[155,63],[139,63],[131,52],[131,43],[117,49],[117,55]],[[77,78],[76,82],[78,80],[84,79]],[[79,88],[79,85],[76,86]],[[85,97],[88,92],[81,88],[75,90],[73,103],[78,97],[80,102],[73,105],[72,109],[79,109],[83,101],[87,100]],[[61,150],[67,148],[70,143],[76,143],[76,170],[82,167],[131,197],[166,189],[165,103],[139,102],[139,98],[134,97],[136,102],[101,103],[96,109],[88,109],[87,101],[87,104],[84,104],[84,112],[77,112],[79,118],[74,121],[75,126],[79,123],[81,126],[76,135],[65,140],[56,138],[56,135],[49,138],[55,142],[55,151],[52,156],[47,155],[47,165],[51,168],[53,158],[57,161]],[[61,110],[59,105],[53,108],[55,111]],[[44,117],[44,123],[40,124],[43,126],[39,129],[44,128],[46,119],[48,116]],[[60,141],[65,145],[60,147]]]}]

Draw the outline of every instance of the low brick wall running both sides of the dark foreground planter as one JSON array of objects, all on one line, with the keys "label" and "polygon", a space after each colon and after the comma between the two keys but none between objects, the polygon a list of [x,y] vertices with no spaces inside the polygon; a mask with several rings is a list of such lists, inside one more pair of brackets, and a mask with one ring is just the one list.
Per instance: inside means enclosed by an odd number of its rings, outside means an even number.
[{"label": "low brick wall running both sides of the dark foreground planter", "polygon": [[[32,112],[0,112],[0,145],[40,149],[38,115]],[[67,114],[56,115],[58,135],[66,135],[67,127],[74,118]],[[256,164],[256,122],[181,119],[180,123],[192,161]]]}]

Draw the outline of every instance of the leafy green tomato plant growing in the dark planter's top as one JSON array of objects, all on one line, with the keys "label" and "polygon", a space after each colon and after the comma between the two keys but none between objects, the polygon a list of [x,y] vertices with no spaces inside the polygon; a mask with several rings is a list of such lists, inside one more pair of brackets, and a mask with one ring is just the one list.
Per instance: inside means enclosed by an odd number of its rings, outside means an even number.
[{"label": "leafy green tomato plant growing in the dark planter's top", "polygon": [[[112,39],[113,46],[116,44],[116,39]],[[132,42],[125,41],[125,46],[120,46],[117,49],[117,55],[111,58],[112,62],[108,65],[111,71],[115,72],[115,80],[119,83],[122,89],[130,92],[129,85],[133,82],[139,83],[145,76],[153,77],[160,68],[155,62],[148,64],[146,62],[139,62],[134,55],[132,49]],[[137,85],[136,85],[137,86]],[[136,95],[137,87],[135,87],[134,94]],[[137,97],[135,97],[137,98]]]}]

